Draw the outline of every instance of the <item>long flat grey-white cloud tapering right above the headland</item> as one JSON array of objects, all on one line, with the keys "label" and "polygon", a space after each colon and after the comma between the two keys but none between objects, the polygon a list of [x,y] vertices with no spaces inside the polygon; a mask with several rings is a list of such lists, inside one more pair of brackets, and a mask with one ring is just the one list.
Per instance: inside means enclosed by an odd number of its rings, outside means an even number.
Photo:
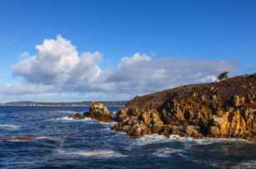
[{"label": "long flat grey-white cloud tapering right above the headland", "polygon": [[234,63],[224,60],[175,60],[150,58],[136,53],[121,59],[107,81],[126,94],[145,94],[160,89],[216,80],[224,70],[234,70]]}]

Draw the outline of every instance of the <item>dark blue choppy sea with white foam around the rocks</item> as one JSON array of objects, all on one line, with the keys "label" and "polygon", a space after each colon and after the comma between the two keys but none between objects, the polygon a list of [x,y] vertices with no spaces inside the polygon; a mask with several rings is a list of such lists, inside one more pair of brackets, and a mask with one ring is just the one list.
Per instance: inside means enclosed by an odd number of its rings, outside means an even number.
[{"label": "dark blue choppy sea with white foam around the rocks", "polygon": [[[0,107],[0,168],[256,168],[256,143],[239,140],[130,138],[112,123],[69,120],[85,107]],[[118,108],[109,108],[116,111]]]}]

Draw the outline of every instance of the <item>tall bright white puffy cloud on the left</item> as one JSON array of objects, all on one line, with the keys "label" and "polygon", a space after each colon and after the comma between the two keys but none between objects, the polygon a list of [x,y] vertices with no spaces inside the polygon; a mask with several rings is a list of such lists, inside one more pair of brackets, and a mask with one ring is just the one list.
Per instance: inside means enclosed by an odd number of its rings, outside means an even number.
[{"label": "tall bright white puffy cloud on the left", "polygon": [[101,69],[96,65],[101,53],[85,53],[79,56],[76,46],[62,36],[56,40],[45,40],[36,46],[37,54],[24,59],[12,67],[12,74],[21,76],[27,82],[43,85],[62,85],[74,75],[87,75],[86,81],[93,80]]}]

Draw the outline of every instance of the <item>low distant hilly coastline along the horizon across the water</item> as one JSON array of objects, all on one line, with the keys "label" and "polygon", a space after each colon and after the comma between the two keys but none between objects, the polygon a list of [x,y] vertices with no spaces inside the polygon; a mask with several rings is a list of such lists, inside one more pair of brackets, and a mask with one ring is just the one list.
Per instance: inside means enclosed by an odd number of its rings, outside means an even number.
[{"label": "low distant hilly coastline along the horizon across the water", "polygon": [[[106,106],[124,106],[127,101],[102,101]],[[91,101],[83,102],[33,102],[33,101],[17,101],[0,104],[0,106],[89,106]]]}]

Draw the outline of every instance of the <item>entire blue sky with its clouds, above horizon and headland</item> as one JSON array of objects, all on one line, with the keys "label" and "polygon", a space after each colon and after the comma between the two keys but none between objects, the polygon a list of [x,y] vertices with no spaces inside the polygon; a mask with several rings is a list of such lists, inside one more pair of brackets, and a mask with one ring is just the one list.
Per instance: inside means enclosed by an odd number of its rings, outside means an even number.
[{"label": "entire blue sky with its clouds, above horizon and headland", "polygon": [[1,0],[0,103],[126,100],[256,72],[254,0]]}]

